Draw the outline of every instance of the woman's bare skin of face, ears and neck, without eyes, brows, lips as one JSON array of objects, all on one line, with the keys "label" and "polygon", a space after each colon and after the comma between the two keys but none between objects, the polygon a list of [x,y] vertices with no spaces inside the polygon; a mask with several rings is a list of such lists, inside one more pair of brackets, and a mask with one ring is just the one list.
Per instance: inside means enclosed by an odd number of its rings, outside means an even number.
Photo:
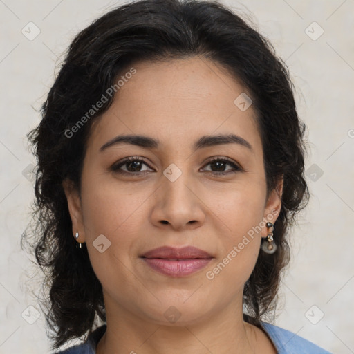
[{"label": "woman's bare skin of face, ears and neck, without eyes, brows, lips", "polygon": [[[234,104],[248,91],[205,58],[140,62],[134,68],[137,73],[91,127],[80,194],[64,182],[73,234],[78,231],[77,241],[86,242],[104,293],[107,329],[97,353],[276,353],[263,330],[242,317],[243,287],[267,228],[214,279],[205,276],[252,227],[266,219],[274,223],[277,217],[269,216],[281,208],[280,183],[266,195],[252,105],[241,111]],[[201,136],[229,133],[252,150],[234,143],[192,149]],[[122,144],[100,151],[120,134],[156,138],[160,147]],[[144,163],[136,169],[122,165],[127,175],[111,170],[130,156]],[[214,156],[229,158],[242,171],[218,175],[234,168],[210,164]],[[171,163],[182,171],[174,182],[163,174]],[[133,176],[138,171],[142,175]],[[102,253],[93,245],[100,234],[111,242]],[[194,245],[214,259],[187,277],[169,277],[139,258],[162,245]],[[180,313],[174,323],[164,315],[170,306]]]}]

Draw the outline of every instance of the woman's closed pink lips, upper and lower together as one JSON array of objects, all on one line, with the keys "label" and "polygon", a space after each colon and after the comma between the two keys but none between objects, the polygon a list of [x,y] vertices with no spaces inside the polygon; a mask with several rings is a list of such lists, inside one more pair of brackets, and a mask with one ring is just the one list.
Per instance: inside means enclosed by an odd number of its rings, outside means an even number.
[{"label": "woman's closed pink lips, upper and lower together", "polygon": [[192,246],[155,248],[141,257],[153,270],[171,277],[185,277],[192,274],[205,268],[214,258],[209,253]]}]

